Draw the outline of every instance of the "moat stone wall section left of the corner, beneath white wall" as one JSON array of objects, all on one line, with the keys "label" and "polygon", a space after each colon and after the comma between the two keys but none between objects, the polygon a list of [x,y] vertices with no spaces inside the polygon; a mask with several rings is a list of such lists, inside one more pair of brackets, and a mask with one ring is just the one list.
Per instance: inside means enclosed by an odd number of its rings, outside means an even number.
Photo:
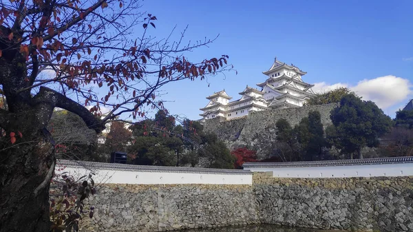
[{"label": "moat stone wall section left of the corner, beneath white wall", "polygon": [[167,231],[258,223],[251,185],[105,184],[82,231]]}]

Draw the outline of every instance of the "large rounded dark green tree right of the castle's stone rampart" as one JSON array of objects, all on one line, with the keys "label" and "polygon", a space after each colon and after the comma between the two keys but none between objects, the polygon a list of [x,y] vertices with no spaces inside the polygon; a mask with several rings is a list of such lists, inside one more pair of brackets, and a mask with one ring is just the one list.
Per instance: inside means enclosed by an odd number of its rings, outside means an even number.
[{"label": "large rounded dark green tree right of the castle's stone rampart", "polygon": [[363,158],[363,147],[375,147],[379,137],[390,131],[392,120],[372,101],[349,94],[332,109],[330,118],[335,125],[335,145],[348,154],[357,152]]}]

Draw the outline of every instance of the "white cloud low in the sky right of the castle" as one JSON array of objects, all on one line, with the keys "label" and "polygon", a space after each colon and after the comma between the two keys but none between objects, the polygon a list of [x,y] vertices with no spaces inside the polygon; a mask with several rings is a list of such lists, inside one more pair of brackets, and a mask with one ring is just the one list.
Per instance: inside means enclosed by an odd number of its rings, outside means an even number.
[{"label": "white cloud low in the sky right of the castle", "polygon": [[363,100],[373,101],[381,109],[387,109],[396,104],[406,101],[412,91],[412,83],[408,79],[396,76],[380,76],[373,79],[364,79],[359,81],[357,85],[352,86],[346,83],[336,83],[329,85],[321,82],[315,83],[313,87],[314,92],[327,92],[339,87],[348,87],[357,95],[362,96]]}]

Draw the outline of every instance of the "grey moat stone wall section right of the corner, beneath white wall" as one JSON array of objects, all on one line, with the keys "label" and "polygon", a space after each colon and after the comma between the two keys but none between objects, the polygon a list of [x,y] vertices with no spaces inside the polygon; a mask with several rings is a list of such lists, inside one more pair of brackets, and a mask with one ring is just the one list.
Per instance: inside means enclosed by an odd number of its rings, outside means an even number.
[{"label": "grey moat stone wall section right of the corner, beneath white wall", "polygon": [[255,173],[254,188],[262,223],[413,231],[413,176],[290,179]]}]

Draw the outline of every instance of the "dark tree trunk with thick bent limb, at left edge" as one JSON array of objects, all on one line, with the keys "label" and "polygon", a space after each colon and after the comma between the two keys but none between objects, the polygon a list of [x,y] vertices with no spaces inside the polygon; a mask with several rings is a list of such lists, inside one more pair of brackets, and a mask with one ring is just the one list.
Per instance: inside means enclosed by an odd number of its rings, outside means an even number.
[{"label": "dark tree trunk with thick bent limb, at left edge", "polygon": [[[85,107],[52,89],[41,87],[28,102],[8,101],[15,110],[2,112],[7,121],[0,118],[1,127],[8,131],[0,140],[0,232],[50,230],[49,186],[56,158],[54,140],[45,127],[54,107],[78,114],[98,132],[105,128]],[[14,144],[11,132],[17,138]]]}]

